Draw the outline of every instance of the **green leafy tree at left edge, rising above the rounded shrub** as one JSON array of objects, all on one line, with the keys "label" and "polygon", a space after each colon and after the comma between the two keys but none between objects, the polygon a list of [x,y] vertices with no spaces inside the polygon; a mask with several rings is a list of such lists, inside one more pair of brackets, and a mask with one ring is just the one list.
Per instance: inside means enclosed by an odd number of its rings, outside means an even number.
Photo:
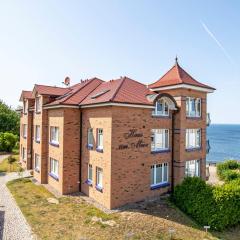
[{"label": "green leafy tree at left edge, rising above the rounded shrub", "polygon": [[0,132],[10,132],[19,136],[19,126],[19,114],[0,100]]}]

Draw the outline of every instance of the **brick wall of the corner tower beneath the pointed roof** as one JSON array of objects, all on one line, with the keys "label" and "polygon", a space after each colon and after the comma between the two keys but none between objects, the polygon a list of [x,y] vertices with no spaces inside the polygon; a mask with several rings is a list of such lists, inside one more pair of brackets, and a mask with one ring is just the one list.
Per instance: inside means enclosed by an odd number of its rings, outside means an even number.
[{"label": "brick wall of the corner tower beneath the pointed roof", "polygon": [[[174,96],[180,111],[175,115],[174,134],[174,183],[180,183],[185,176],[185,164],[187,160],[200,160],[200,175],[206,178],[206,103],[207,94],[190,89],[168,90],[167,93]],[[202,100],[202,114],[200,118],[188,118],[186,116],[186,97],[196,97]],[[202,147],[195,151],[186,151],[186,129],[201,128]]]}]

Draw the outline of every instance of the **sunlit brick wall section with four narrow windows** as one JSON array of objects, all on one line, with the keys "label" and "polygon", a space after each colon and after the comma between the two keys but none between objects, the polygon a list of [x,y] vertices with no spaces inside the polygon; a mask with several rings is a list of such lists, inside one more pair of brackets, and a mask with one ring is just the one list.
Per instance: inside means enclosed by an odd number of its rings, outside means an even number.
[{"label": "sunlit brick wall section with four narrow windows", "polygon": [[[93,128],[93,150],[87,148],[87,129]],[[103,153],[96,151],[97,129],[103,128]],[[82,155],[81,155],[81,191],[87,196],[111,208],[111,148],[112,148],[112,108],[86,108],[82,110]],[[93,184],[88,179],[88,164],[93,167]],[[103,192],[96,190],[96,168],[103,169]]]}]

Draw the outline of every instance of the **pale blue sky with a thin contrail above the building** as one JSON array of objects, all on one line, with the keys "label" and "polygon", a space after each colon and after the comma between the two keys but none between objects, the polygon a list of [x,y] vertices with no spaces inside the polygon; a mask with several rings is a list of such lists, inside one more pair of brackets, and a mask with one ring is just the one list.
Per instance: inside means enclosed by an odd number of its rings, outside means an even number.
[{"label": "pale blue sky with a thin contrail above the building", "polygon": [[215,123],[240,123],[239,1],[2,1],[0,99],[97,76],[151,83],[174,64],[217,88]]}]

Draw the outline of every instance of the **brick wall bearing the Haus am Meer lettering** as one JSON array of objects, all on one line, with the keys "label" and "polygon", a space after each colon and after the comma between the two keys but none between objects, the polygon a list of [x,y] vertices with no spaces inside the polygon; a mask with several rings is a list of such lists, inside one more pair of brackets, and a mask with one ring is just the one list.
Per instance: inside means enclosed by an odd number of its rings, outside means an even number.
[{"label": "brick wall bearing the Haus am Meer lettering", "polygon": [[[132,129],[142,137],[126,138]],[[151,153],[152,129],[169,129],[169,152]],[[159,163],[169,164],[171,183],[171,114],[169,118],[158,118],[152,116],[152,109],[113,107],[112,131],[111,208],[168,192],[171,185],[155,190],[151,190],[150,185],[151,165]],[[121,144],[128,148],[119,149]]]}]

